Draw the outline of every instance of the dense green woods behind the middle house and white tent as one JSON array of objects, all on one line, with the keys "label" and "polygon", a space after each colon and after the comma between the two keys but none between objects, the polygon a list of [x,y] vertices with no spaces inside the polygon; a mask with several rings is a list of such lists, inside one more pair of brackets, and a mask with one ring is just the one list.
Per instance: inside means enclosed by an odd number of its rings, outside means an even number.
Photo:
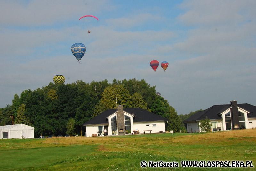
[{"label": "dense green woods behind the middle house and white tent", "polygon": [[156,95],[155,86],[144,79],[92,81],[54,84],[24,90],[14,95],[12,105],[0,108],[0,126],[27,124],[40,135],[65,135],[69,119],[74,120],[74,133],[83,135],[83,123],[107,109],[121,104],[124,108],[143,108],[168,119],[166,130],[185,131],[181,118],[163,97]]}]

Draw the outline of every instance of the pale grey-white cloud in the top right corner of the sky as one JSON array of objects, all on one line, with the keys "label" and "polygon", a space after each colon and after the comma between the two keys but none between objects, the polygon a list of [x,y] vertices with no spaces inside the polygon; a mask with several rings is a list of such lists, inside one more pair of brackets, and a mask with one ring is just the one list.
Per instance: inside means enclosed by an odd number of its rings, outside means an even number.
[{"label": "pale grey-white cloud in the top right corner of the sky", "polygon": [[[256,1],[225,0],[225,1],[185,1],[181,7],[188,9],[179,19],[188,25],[232,25],[249,19],[255,19]],[[246,15],[244,15],[246,14]]]}]

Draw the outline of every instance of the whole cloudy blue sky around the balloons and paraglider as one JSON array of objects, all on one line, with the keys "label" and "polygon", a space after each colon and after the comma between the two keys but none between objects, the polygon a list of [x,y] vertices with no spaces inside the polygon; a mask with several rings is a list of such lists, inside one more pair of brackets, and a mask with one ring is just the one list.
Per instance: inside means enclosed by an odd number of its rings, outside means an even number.
[{"label": "whole cloudy blue sky around the balloons and paraglider", "polygon": [[[66,83],[145,79],[178,114],[255,103],[256,1],[1,1],[0,107]],[[78,20],[83,15],[93,18]],[[88,34],[87,30],[91,33]],[[87,50],[78,64],[72,44]],[[154,72],[151,60],[168,61]]]}]

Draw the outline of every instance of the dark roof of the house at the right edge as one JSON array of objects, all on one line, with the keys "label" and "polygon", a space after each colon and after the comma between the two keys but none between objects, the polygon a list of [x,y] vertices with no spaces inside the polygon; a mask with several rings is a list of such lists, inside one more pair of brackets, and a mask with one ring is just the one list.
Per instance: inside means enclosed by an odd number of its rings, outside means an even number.
[{"label": "dark roof of the house at the right edge", "polygon": [[[249,111],[250,113],[247,115],[248,118],[254,118],[256,117],[256,106],[250,105],[248,103],[243,103],[243,104],[237,104],[239,108],[242,108],[244,110]],[[197,120],[203,120],[206,117],[208,119],[222,119],[218,113],[222,113],[228,108],[231,108],[231,105],[213,105],[212,107],[205,109],[203,111],[199,111],[196,114],[190,116],[188,119],[184,120],[183,122],[191,122],[191,121],[197,121]]]}]

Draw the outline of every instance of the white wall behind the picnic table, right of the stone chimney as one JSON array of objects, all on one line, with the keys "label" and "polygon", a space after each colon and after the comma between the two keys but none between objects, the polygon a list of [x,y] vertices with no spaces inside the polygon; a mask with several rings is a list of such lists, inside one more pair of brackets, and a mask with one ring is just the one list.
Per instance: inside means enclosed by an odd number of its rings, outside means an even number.
[{"label": "white wall behind the picnic table, right of the stone chimney", "polygon": [[[153,124],[156,124],[156,126],[153,126]],[[134,122],[133,129],[131,131],[133,130],[138,130],[140,134],[142,134],[144,130],[152,130],[151,133],[159,133],[159,131],[165,132],[165,124],[164,121]]]}]

